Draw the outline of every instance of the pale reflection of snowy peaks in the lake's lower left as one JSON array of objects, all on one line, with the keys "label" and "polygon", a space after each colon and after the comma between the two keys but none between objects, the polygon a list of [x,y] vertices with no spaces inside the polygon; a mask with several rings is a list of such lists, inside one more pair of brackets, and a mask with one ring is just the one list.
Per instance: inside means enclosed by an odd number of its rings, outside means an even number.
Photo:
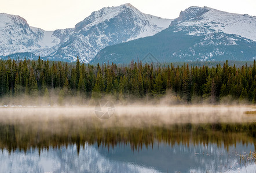
[{"label": "pale reflection of snowy peaks in the lake's lower left", "polygon": [[38,155],[35,149],[16,151],[11,155],[3,151],[0,172],[158,172],[153,168],[116,161],[102,156],[92,145],[85,145],[79,155],[76,145],[61,149],[50,148]]}]

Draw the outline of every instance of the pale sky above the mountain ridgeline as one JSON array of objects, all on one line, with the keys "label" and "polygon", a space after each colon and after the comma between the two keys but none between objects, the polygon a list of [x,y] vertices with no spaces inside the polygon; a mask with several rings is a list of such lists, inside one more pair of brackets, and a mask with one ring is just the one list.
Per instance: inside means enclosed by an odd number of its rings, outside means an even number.
[{"label": "pale sky above the mountain ridgeline", "polygon": [[32,27],[52,31],[74,28],[92,12],[103,7],[131,3],[143,13],[177,18],[189,6],[208,6],[230,13],[256,16],[256,0],[0,0],[0,13],[19,15]]}]

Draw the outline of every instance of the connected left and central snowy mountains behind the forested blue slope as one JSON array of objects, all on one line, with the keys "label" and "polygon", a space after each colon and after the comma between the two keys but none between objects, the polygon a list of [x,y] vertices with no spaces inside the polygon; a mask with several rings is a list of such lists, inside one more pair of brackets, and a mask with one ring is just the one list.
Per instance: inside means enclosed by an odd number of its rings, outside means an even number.
[{"label": "connected left and central snowy mountains behind the forested blue slope", "polygon": [[20,16],[1,13],[0,57],[32,53],[71,62],[79,56],[81,61],[89,62],[104,47],[152,36],[170,23],[169,19],[141,13],[129,3],[104,7],[76,24],[75,28],[56,31],[30,27]]}]

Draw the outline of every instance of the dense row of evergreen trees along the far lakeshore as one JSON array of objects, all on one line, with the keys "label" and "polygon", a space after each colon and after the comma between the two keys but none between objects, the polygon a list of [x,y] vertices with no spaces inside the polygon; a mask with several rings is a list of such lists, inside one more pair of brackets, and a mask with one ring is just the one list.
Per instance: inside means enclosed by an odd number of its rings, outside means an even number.
[{"label": "dense row of evergreen trees along the far lakeshore", "polygon": [[22,96],[50,103],[57,96],[57,101],[65,104],[74,96],[98,100],[111,95],[125,101],[160,99],[171,92],[182,103],[217,103],[225,97],[255,103],[255,79],[255,60],[253,65],[241,67],[229,66],[228,61],[213,67],[185,63],[160,67],[133,61],[127,66],[94,66],[80,63],[79,58],[76,63],[43,61],[40,57],[37,61],[0,60],[0,97],[5,100]]}]

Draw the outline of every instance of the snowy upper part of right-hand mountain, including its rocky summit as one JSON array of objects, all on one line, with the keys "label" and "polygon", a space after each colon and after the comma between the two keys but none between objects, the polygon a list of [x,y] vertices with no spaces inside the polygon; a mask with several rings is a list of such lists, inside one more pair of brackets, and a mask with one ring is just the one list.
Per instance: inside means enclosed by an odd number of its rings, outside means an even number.
[{"label": "snowy upper part of right-hand mountain, including its rocky summit", "polygon": [[199,28],[189,32],[189,35],[224,32],[256,41],[256,17],[248,14],[234,14],[210,7],[192,6],[181,12],[180,17],[175,19],[171,25],[177,25],[177,31],[184,27]]}]

